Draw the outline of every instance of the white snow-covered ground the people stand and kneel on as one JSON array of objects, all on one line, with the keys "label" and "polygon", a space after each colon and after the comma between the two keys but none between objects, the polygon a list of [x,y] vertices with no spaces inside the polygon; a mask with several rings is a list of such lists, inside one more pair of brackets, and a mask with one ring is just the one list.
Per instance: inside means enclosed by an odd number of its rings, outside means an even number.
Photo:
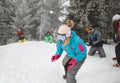
[{"label": "white snow-covered ground the people stand and kneel on", "polygon": [[[119,83],[120,68],[112,65],[115,44],[104,45],[106,58],[87,56],[79,70],[77,83]],[[89,47],[88,47],[89,50]],[[56,51],[55,43],[29,41],[0,46],[0,83],[66,83],[62,79],[64,70],[62,57],[52,63]]]}]

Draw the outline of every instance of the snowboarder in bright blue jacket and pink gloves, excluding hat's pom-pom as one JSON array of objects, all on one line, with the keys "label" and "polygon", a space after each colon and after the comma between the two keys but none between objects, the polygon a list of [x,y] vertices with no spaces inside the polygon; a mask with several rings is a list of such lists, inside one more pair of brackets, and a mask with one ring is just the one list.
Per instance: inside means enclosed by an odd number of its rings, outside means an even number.
[{"label": "snowboarder in bright blue jacket and pink gloves, excluding hat's pom-pom", "polygon": [[86,59],[86,44],[67,25],[59,27],[57,37],[59,39],[56,42],[57,50],[51,57],[51,61],[58,60],[65,51],[67,55],[62,62],[65,69],[64,79],[67,80],[67,83],[76,83],[75,76]]}]

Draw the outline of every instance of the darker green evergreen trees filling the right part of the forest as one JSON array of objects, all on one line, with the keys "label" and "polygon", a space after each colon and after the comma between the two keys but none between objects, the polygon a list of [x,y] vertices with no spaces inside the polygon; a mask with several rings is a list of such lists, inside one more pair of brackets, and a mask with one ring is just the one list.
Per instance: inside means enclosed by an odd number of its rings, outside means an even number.
[{"label": "darker green evergreen trees filling the right part of the forest", "polygon": [[78,35],[83,37],[83,29],[89,25],[101,30],[107,42],[108,33],[112,32],[112,16],[120,13],[119,0],[70,0],[70,3],[67,19],[74,20]]}]

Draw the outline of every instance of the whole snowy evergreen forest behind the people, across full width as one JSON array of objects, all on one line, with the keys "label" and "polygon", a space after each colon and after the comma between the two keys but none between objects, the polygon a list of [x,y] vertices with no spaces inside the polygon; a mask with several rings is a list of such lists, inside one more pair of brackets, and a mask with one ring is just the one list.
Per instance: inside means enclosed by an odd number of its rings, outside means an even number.
[{"label": "whole snowy evergreen forest behind the people, across full width", "polygon": [[114,39],[112,17],[120,14],[119,5],[119,0],[0,0],[0,45],[16,42],[18,28],[29,41],[41,41],[67,19],[75,22],[73,30],[84,40],[90,26],[101,31],[107,43]]}]

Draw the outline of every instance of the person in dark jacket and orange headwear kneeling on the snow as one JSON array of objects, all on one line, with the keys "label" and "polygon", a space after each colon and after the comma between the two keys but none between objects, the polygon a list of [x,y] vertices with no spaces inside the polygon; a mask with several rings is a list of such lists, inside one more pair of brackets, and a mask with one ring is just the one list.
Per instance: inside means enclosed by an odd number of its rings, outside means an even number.
[{"label": "person in dark jacket and orange headwear kneeling on the snow", "polygon": [[93,56],[94,53],[98,51],[101,58],[106,57],[101,40],[101,33],[91,27],[87,27],[85,30],[88,33],[88,44],[91,46],[88,55]]}]

